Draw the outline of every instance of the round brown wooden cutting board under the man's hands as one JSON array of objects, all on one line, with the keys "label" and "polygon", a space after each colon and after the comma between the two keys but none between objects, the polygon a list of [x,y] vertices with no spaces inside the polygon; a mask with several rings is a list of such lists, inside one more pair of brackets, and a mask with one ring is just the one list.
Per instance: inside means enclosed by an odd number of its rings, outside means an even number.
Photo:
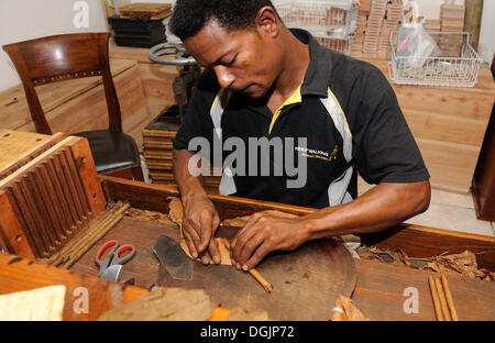
[{"label": "round brown wooden cutting board under the man's hands", "polygon": [[[237,230],[221,226],[217,236],[231,239]],[[202,288],[210,301],[223,308],[265,310],[274,320],[324,321],[330,319],[337,297],[351,297],[356,281],[351,254],[333,240],[309,242],[292,253],[272,253],[256,269],[274,287],[272,294],[249,273],[199,262],[194,262],[190,281],[175,280],[160,266],[158,283],[163,287]]]}]

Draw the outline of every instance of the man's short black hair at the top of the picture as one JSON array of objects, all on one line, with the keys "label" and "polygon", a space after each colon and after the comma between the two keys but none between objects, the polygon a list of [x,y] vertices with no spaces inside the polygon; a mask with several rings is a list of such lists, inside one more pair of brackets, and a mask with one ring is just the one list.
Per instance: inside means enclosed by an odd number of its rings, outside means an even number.
[{"label": "man's short black hair at the top of the picture", "polygon": [[271,0],[177,0],[169,29],[183,42],[195,36],[211,20],[227,30],[254,27],[260,9]]}]

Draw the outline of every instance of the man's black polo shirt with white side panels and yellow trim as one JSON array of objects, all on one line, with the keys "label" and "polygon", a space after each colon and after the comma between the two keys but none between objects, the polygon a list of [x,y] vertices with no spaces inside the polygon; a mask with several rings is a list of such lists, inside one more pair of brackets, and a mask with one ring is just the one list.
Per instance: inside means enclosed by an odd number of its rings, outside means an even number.
[{"label": "man's black polo shirt with white side panels and yellow trim", "polygon": [[[198,152],[197,146],[189,146],[195,137],[206,139],[211,148],[216,139],[222,143],[229,139],[242,141],[245,150],[237,153],[245,156],[246,173],[232,177],[224,173],[220,193],[314,208],[355,199],[358,172],[369,184],[428,179],[421,154],[384,75],[371,64],[324,48],[306,31],[292,32],[309,45],[310,54],[299,100],[296,95],[296,101],[285,106],[273,121],[265,99],[222,90],[215,71],[207,69],[195,88],[174,148]],[[278,140],[273,146],[282,142],[284,150],[272,146],[268,156],[261,154],[260,146],[250,148],[250,140],[261,137]],[[306,140],[304,145],[299,139]],[[232,162],[228,158],[232,151],[223,151],[224,168],[229,167],[227,159]],[[282,175],[279,169],[275,172],[280,154],[287,157],[290,151],[295,166],[306,164],[302,187],[287,187],[288,180],[298,177],[294,173],[285,168]],[[260,169],[265,157],[270,159],[268,175]],[[238,169],[238,164],[230,167]]]}]

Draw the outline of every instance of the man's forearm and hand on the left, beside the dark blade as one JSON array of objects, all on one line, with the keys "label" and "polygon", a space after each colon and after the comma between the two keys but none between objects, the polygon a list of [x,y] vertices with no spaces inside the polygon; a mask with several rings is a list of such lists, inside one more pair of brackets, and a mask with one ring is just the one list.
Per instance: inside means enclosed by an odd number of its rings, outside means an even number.
[{"label": "man's forearm and hand on the left, beside the dark blade", "polygon": [[215,232],[220,218],[202,187],[201,176],[189,173],[189,159],[194,154],[187,150],[174,150],[175,180],[184,207],[183,234],[193,257],[204,264],[220,263]]}]

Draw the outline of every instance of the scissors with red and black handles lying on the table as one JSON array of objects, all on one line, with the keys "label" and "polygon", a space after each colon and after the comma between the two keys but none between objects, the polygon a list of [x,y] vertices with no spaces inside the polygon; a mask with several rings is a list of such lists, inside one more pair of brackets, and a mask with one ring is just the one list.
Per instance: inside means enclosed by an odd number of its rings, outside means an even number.
[{"label": "scissors with red and black handles lying on the table", "polygon": [[[111,247],[110,254],[106,259],[101,259],[103,253]],[[129,254],[122,256],[123,252],[130,251]],[[98,254],[96,255],[96,264],[100,267],[99,277],[111,280],[119,281],[120,275],[122,274],[122,265],[132,259],[135,255],[135,247],[131,244],[120,245],[118,241],[108,241],[105,243]]]}]

